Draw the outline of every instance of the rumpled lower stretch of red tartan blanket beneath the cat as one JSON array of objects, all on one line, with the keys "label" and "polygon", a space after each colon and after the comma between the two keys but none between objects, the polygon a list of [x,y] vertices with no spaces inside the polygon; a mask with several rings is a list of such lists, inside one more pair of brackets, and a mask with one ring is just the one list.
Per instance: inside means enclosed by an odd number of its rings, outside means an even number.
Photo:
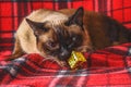
[{"label": "rumpled lower stretch of red tartan blanket beneath the cat", "polygon": [[38,54],[27,54],[11,62],[0,62],[0,84],[8,87],[88,87],[131,86],[131,44],[84,53],[87,67],[71,71]]}]

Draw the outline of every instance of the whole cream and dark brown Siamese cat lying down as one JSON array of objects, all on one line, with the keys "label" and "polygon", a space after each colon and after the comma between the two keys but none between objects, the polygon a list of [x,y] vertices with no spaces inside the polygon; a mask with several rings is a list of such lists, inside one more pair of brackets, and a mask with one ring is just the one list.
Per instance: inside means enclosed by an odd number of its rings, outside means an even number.
[{"label": "whole cream and dark brown Siamese cat lying down", "polygon": [[83,8],[36,10],[24,17],[15,34],[10,59],[38,53],[61,66],[71,52],[91,52],[131,41],[128,29],[116,20]]}]

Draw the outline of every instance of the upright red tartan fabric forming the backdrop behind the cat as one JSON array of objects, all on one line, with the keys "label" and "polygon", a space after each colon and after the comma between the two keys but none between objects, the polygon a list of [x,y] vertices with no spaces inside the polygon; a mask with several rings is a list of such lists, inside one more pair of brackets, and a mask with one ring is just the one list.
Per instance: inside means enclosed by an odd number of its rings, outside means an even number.
[{"label": "upright red tartan fabric forming the backdrop behind the cat", "polygon": [[79,7],[109,15],[131,28],[131,0],[0,0],[0,51],[13,49],[13,35],[33,10]]}]

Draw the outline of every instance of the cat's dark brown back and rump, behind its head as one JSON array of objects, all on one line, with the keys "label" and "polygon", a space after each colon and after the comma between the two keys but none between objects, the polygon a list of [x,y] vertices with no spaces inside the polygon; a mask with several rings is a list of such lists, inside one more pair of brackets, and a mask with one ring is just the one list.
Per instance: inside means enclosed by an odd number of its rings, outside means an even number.
[{"label": "cat's dark brown back and rump, behind its head", "polygon": [[[60,12],[72,15],[75,10],[60,10]],[[107,15],[85,11],[83,23],[95,49],[104,49],[105,47],[131,41],[130,32],[122,24]]]}]

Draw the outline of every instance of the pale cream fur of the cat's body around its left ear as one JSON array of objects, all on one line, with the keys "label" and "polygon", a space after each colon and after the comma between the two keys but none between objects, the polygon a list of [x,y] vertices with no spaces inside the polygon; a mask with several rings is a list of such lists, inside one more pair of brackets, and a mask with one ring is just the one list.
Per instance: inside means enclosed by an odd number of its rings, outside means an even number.
[{"label": "pale cream fur of the cat's body around its left ear", "polygon": [[[63,15],[61,13],[53,12],[53,11],[41,10],[41,9],[34,11],[26,17],[35,22],[48,21],[48,22],[51,22],[51,24],[56,24],[56,25],[59,25],[60,22],[63,20],[68,20],[67,15]],[[23,49],[25,53],[39,53],[40,54],[36,46],[36,37],[32,28],[25,21],[25,18],[23,20],[23,22],[21,23],[16,32],[16,38],[19,38],[21,48]]]}]

